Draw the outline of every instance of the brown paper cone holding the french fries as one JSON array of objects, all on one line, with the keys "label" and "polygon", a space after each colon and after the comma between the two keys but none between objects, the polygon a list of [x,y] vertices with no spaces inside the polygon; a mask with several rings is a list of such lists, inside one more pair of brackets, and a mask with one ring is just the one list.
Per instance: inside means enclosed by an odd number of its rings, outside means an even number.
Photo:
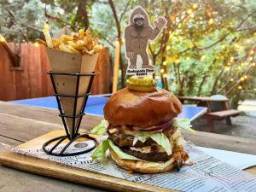
[{"label": "brown paper cone holding the french fries", "polygon": [[[49,64],[53,72],[58,73],[92,73],[94,72],[98,54],[77,55],[63,52],[57,49],[47,49]],[[55,87],[58,94],[76,95],[77,76],[54,75]],[[83,95],[88,89],[90,76],[80,76],[79,93]],[[61,108],[66,115],[73,115],[75,98],[60,96]],[[84,97],[78,97],[75,114],[81,113]],[[73,136],[73,131],[77,127],[78,119],[73,122],[73,118],[66,118],[69,133]],[[74,130],[73,130],[74,129]]]}]

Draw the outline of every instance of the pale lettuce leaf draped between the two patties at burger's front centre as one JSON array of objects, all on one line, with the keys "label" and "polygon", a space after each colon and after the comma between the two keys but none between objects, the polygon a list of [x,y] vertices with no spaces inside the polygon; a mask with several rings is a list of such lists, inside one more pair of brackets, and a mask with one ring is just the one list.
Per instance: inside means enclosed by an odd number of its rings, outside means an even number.
[{"label": "pale lettuce leaf draped between the two patties at burger's front centre", "polygon": [[137,141],[142,143],[146,142],[148,137],[152,138],[155,143],[164,148],[168,155],[172,154],[172,146],[163,132],[137,131],[137,134],[133,139],[133,145],[135,145]]}]

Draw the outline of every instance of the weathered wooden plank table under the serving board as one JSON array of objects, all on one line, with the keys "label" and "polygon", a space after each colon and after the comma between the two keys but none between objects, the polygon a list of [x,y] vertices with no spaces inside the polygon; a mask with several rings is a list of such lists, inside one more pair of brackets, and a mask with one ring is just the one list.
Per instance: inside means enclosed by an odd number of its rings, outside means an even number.
[{"label": "weathered wooden plank table under the serving board", "polygon": [[[90,130],[101,119],[102,117],[85,115],[81,128]],[[55,109],[0,102],[1,143],[18,145],[49,131],[59,130],[61,128],[61,119],[58,116],[58,111]],[[196,135],[189,135],[187,133],[183,133],[183,135],[198,146],[256,154],[256,140],[201,131],[198,131]],[[1,151],[3,151],[3,148],[0,148],[0,153]],[[248,169],[247,172],[256,175],[256,167]],[[49,177],[20,172],[3,166],[0,166],[0,175],[0,191],[105,191]]]}]

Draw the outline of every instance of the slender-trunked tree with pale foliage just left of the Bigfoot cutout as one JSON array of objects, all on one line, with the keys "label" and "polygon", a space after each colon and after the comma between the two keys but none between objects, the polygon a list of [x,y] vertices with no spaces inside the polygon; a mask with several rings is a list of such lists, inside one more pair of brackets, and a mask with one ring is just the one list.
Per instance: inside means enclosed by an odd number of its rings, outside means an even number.
[{"label": "slender-trunked tree with pale foliage just left of the Bigfoot cutout", "polygon": [[93,14],[93,21],[95,23],[93,26],[96,26],[95,28],[98,34],[100,34],[112,48],[115,46],[114,42],[118,41],[120,44],[119,68],[121,76],[119,88],[125,87],[125,73],[128,66],[125,59],[124,46],[122,46],[124,45],[123,30],[128,24],[129,11],[135,4],[136,1],[134,0],[115,1],[114,3],[112,0],[108,0],[108,4],[97,3],[96,6],[100,9],[96,9]]}]

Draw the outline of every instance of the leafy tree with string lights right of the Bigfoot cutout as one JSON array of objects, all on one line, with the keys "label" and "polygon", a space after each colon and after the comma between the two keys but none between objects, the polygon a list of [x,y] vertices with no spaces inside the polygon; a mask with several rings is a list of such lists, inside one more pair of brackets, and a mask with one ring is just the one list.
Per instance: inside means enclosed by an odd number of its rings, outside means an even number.
[{"label": "leafy tree with string lights right of the Bigfoot cutout", "polygon": [[226,95],[234,108],[255,94],[255,4],[145,1],[144,6],[149,15],[160,11],[169,20],[149,46],[165,89],[180,96]]}]

